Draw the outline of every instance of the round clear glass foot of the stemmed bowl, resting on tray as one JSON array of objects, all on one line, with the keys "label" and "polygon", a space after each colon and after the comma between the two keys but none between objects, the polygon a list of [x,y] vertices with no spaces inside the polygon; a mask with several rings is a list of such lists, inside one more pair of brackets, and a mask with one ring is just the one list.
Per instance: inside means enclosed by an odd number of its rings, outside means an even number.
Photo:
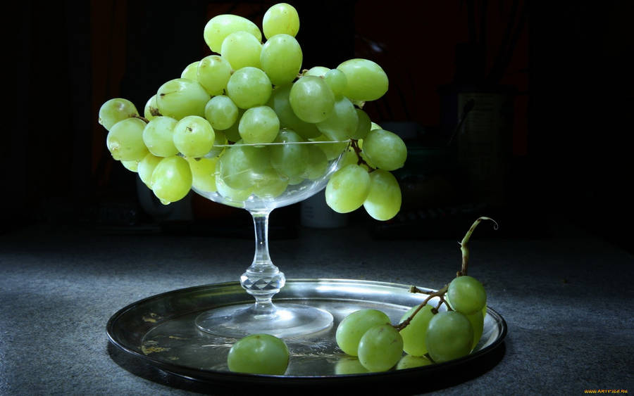
[{"label": "round clear glass foot of the stemmed bowl, resting on tray", "polygon": [[275,304],[273,312],[260,314],[254,305],[230,305],[203,312],[196,326],[206,333],[228,338],[266,333],[280,338],[306,336],[332,326],[332,314],[299,304]]}]

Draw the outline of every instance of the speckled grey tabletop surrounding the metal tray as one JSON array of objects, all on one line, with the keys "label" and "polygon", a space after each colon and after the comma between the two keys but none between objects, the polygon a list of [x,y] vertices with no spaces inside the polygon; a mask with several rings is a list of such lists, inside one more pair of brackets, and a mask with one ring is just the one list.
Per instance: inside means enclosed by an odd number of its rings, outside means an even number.
[{"label": "speckled grey tabletop surrounding the metal tray", "polygon": [[[433,392],[633,390],[634,257],[585,231],[558,227],[545,238],[473,236],[470,274],[483,281],[489,305],[506,320],[504,355],[481,375]],[[387,241],[373,239],[363,226],[301,228],[299,238],[271,241],[270,250],[288,278],[439,288],[455,272],[460,238]],[[252,255],[247,238],[59,226],[1,234],[0,394],[204,391],[125,369],[113,359],[106,323],[151,295],[235,281]]]}]

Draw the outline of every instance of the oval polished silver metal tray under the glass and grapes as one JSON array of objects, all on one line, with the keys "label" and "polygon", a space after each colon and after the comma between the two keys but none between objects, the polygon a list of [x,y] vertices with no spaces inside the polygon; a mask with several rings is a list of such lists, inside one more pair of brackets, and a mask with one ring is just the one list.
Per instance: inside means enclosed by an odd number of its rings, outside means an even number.
[{"label": "oval polished silver metal tray under the glass and grapes", "polygon": [[[419,287],[421,288],[421,287]],[[139,364],[202,383],[256,383],[258,386],[343,384],[368,381],[371,378],[392,378],[397,381],[436,377],[441,371],[458,373],[459,366],[474,366],[475,359],[487,357],[504,340],[506,323],[490,307],[485,316],[484,331],[471,355],[442,364],[411,369],[364,372],[358,361],[344,355],[335,342],[337,324],[347,314],[362,308],[380,309],[392,323],[398,323],[404,312],[422,302],[426,295],[410,293],[410,286],[377,281],[347,279],[289,279],[274,302],[305,304],[328,310],[334,317],[330,328],[298,338],[285,338],[290,362],[284,376],[232,373],[226,359],[233,338],[213,336],[199,331],[194,319],[201,312],[215,307],[251,304],[252,298],[238,282],[216,283],[173,290],[139,300],[114,314],[107,324],[111,343]],[[423,290],[430,290],[421,288]],[[498,354],[499,355],[499,354]],[[501,359],[501,357],[499,357]],[[499,362],[496,359],[493,365]],[[476,367],[487,364],[476,363]],[[490,366],[490,364],[489,364]],[[456,378],[453,376],[452,378]]]}]

